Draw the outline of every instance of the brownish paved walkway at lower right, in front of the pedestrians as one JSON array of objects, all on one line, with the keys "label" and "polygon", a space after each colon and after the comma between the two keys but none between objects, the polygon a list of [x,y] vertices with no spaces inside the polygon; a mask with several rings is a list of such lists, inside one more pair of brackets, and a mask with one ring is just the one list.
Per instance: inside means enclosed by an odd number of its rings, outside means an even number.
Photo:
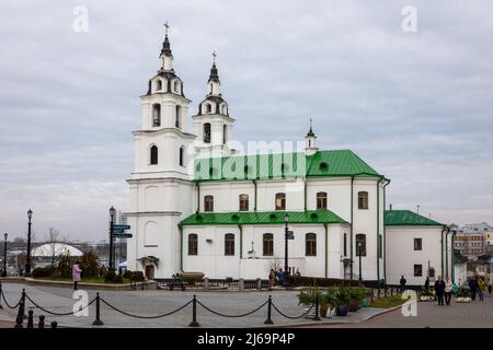
[{"label": "brownish paved walkway at lower right, in front of the pedestrians", "polygon": [[417,303],[417,316],[404,317],[401,308],[380,314],[369,320],[351,325],[320,325],[313,327],[337,328],[477,328],[493,327],[493,296],[484,301],[477,299],[471,303],[456,303],[438,306],[436,302]]}]

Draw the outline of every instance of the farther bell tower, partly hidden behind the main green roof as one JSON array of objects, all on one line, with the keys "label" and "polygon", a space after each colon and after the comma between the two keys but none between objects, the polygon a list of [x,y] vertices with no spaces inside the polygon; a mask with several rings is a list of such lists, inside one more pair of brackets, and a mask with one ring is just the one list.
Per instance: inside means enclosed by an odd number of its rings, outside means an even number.
[{"label": "farther bell tower, partly hidden behind the main green roof", "polygon": [[221,82],[216,67],[216,52],[213,52],[213,67],[207,81],[207,95],[193,116],[194,133],[197,136],[195,149],[197,156],[223,156],[231,154],[228,141],[234,119],[229,115],[228,103],[221,94]]}]

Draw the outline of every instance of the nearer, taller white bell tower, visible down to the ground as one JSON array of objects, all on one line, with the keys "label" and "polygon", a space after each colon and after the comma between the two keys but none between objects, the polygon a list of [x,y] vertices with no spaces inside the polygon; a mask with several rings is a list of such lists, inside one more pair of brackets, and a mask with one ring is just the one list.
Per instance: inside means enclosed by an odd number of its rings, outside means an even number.
[{"label": "nearer, taller white bell tower, visible down to the ground", "polygon": [[[128,269],[148,278],[170,278],[180,269],[179,222],[192,213],[194,140],[187,132],[183,81],[173,68],[164,25],[159,70],[141,100],[140,129],[133,132],[135,167],[129,184],[134,236],[127,242]],[[149,257],[152,257],[151,259]]]}]

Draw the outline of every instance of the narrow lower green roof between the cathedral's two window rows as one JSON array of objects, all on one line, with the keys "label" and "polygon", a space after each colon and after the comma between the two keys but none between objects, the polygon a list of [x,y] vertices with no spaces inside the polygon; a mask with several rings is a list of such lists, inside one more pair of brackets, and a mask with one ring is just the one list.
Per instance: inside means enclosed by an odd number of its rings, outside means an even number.
[{"label": "narrow lower green roof between the cathedral's two window rows", "polygon": [[268,211],[268,212],[200,212],[180,222],[181,225],[248,225],[284,224],[284,215],[289,214],[289,223],[347,223],[330,210]]}]

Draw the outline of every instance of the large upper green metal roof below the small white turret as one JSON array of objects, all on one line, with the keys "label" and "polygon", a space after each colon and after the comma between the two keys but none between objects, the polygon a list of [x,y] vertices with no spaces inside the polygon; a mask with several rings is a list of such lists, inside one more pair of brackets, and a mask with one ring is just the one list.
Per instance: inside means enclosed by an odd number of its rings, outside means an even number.
[{"label": "large upper green metal roof below the small white turret", "polygon": [[195,161],[196,180],[380,176],[349,150],[208,158]]}]

